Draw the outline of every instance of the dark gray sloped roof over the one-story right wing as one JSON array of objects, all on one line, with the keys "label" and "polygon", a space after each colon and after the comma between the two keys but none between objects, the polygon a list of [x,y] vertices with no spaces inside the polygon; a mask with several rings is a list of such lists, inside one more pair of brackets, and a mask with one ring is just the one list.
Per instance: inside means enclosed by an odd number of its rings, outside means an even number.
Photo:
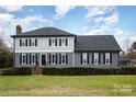
[{"label": "dark gray sloped roof over the one-story right wing", "polygon": [[84,52],[84,50],[97,50],[97,52],[105,52],[105,50],[122,50],[118,46],[116,39],[113,35],[86,35],[86,36],[77,36],[76,39],[76,52]]}]

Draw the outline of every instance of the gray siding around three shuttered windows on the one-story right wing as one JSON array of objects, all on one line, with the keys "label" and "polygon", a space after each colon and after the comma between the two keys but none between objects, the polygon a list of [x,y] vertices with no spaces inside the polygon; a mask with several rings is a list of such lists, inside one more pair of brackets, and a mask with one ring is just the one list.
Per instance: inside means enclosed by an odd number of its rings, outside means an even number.
[{"label": "gray siding around three shuttered windows on the one-story right wing", "polygon": [[112,53],[112,64],[110,65],[105,65],[103,64],[103,53],[100,54],[101,56],[101,63],[99,65],[94,65],[92,64],[92,53],[89,53],[89,64],[87,65],[82,65],[80,64],[80,54],[81,53],[76,53],[75,54],[75,66],[76,67],[101,67],[101,68],[105,68],[105,67],[118,67],[118,53]]}]

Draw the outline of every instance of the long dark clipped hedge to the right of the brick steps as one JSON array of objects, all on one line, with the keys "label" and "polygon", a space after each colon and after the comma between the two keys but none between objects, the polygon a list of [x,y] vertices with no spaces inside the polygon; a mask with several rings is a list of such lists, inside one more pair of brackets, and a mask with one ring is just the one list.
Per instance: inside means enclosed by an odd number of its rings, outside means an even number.
[{"label": "long dark clipped hedge to the right of the brick steps", "polygon": [[44,68],[43,75],[136,75],[136,68]]}]

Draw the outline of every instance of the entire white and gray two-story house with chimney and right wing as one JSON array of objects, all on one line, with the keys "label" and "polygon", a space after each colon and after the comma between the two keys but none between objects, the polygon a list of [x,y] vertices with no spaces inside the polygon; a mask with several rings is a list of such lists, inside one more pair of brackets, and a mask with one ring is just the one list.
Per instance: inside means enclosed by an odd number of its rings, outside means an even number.
[{"label": "entire white and gray two-story house with chimney and right wing", "polygon": [[22,33],[13,37],[18,67],[117,67],[121,47],[113,35],[75,35],[55,27]]}]

